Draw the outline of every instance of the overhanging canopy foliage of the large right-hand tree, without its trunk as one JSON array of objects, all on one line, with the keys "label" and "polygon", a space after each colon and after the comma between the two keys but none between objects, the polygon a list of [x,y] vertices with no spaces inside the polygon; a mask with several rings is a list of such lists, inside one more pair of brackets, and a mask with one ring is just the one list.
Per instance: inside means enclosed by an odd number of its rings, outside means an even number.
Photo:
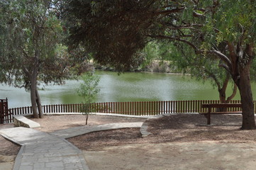
[{"label": "overhanging canopy foliage of the large right-hand tree, without its trunk", "polygon": [[[232,5],[230,5],[232,4]],[[62,5],[69,47],[82,44],[101,64],[124,69],[157,52],[148,40],[183,40],[204,56],[221,42],[252,41],[255,1],[78,1]],[[176,10],[176,11],[175,11]],[[175,11],[175,12],[172,12]],[[74,19],[76,18],[76,19]],[[176,39],[179,38],[179,39]],[[148,53],[141,58],[138,51]]]}]

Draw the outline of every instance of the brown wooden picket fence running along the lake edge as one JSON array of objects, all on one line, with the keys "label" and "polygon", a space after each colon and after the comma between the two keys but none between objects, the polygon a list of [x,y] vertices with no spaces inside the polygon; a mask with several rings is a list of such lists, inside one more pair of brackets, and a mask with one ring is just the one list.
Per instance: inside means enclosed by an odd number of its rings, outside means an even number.
[{"label": "brown wooden picket fence running along the lake edge", "polygon": [[[207,112],[201,108],[203,103],[221,103],[220,101],[136,101],[92,103],[91,108],[97,113],[119,113],[126,115],[160,115],[165,113],[199,113]],[[230,101],[240,103],[240,101]],[[43,113],[79,113],[82,104],[55,104],[42,106]],[[256,101],[254,101],[256,113]],[[240,111],[240,108],[230,108],[229,111]],[[9,108],[9,114],[4,115],[4,123],[13,121],[12,115],[32,113],[32,107]]]}]

